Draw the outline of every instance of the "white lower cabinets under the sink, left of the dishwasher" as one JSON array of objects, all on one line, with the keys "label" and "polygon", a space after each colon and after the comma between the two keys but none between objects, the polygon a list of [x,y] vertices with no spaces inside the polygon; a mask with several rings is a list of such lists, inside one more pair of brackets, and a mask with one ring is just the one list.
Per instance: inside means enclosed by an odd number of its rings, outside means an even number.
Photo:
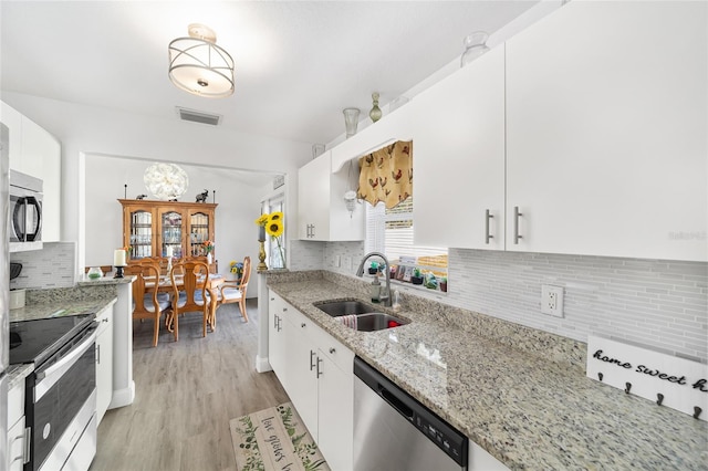
[{"label": "white lower cabinets under the sink, left of the dishwasher", "polygon": [[332,470],[351,470],[354,353],[279,295],[269,296],[270,364]]}]

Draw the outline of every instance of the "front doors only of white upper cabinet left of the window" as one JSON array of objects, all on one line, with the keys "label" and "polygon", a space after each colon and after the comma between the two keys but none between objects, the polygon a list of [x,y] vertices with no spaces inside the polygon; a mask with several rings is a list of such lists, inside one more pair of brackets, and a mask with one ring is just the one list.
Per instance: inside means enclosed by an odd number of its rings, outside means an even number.
[{"label": "front doors only of white upper cabinet left of the window", "polygon": [[326,151],[298,171],[298,237],[301,240],[329,240],[330,165]]}]

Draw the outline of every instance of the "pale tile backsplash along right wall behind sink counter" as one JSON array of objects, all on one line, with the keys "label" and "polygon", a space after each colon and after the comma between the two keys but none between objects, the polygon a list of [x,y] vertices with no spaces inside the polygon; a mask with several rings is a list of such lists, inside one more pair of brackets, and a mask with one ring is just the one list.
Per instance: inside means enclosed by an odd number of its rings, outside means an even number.
[{"label": "pale tile backsplash along right wall behind sink counter", "polygon": [[[292,270],[346,275],[364,254],[363,242],[300,249],[308,266]],[[448,270],[447,294],[421,295],[581,342],[598,335],[708,363],[708,263],[449,249]],[[563,287],[563,318],[541,314],[542,284]]]}]

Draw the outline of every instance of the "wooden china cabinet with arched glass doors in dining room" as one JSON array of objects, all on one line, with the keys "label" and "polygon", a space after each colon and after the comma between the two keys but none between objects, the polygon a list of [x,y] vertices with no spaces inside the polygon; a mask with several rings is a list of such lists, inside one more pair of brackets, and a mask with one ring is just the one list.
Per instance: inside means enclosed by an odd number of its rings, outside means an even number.
[{"label": "wooden china cabinet with arched glass doors in dining room", "polygon": [[[128,263],[146,257],[173,259],[206,255],[204,242],[215,240],[217,203],[118,199],[123,206],[123,245]],[[218,271],[216,248],[210,271]]]}]

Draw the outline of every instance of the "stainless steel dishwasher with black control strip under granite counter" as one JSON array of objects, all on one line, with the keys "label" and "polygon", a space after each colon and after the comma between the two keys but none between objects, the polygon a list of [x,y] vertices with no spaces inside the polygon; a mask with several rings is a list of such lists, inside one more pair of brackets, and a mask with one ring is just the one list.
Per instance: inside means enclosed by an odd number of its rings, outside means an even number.
[{"label": "stainless steel dishwasher with black control strip under granite counter", "polygon": [[354,376],[355,471],[467,469],[467,437],[360,357]]}]

